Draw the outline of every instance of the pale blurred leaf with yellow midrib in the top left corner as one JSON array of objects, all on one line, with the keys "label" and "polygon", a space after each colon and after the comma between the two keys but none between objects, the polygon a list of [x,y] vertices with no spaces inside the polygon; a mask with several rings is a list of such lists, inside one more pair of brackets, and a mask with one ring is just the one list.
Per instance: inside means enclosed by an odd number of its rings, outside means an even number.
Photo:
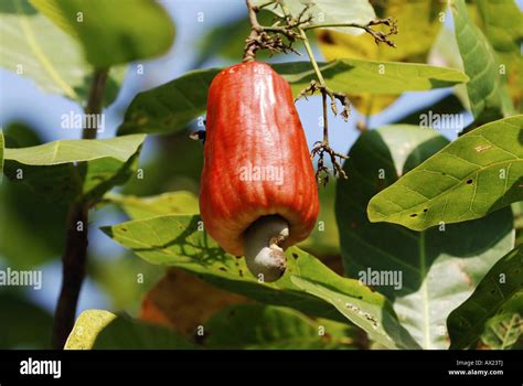
[{"label": "pale blurred leaf with yellow midrib in the top left corner", "polygon": [[[0,4],[0,66],[29,77],[47,93],[84,101],[87,98],[92,66],[84,60],[76,41],[55,28],[25,0]],[[124,68],[109,73],[105,104],[117,96]]]}]

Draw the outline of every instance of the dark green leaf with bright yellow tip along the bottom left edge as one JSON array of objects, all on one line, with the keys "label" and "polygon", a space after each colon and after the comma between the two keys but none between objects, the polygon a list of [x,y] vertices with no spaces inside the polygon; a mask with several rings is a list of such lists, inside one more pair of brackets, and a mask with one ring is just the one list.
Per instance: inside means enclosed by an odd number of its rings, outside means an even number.
[{"label": "dark green leaf with bright yellow tip along the bottom left edge", "polygon": [[186,350],[194,345],[169,329],[102,310],[82,312],[65,350]]}]

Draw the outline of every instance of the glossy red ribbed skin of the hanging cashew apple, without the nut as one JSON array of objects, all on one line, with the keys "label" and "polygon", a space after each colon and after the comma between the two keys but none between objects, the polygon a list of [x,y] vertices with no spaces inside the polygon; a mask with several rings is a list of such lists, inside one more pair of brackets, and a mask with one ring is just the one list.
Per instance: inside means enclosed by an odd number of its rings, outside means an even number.
[{"label": "glossy red ribbed skin of the hanging cashew apple, without the nut", "polygon": [[[290,86],[269,65],[237,64],[213,79],[204,153],[200,212],[227,253],[244,255],[243,233],[260,216],[287,219],[284,247],[309,236],[320,207],[314,170]],[[258,181],[249,164],[282,178]]]}]

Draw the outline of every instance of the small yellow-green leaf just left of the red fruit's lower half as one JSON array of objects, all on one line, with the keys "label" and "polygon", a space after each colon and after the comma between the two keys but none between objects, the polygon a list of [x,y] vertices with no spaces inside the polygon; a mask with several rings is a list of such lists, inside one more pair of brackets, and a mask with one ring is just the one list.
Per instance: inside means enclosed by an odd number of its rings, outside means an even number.
[{"label": "small yellow-green leaf just left of the red fruit's lower half", "polygon": [[108,193],[105,202],[118,205],[132,219],[163,214],[200,213],[198,197],[191,192],[170,192],[149,197]]}]

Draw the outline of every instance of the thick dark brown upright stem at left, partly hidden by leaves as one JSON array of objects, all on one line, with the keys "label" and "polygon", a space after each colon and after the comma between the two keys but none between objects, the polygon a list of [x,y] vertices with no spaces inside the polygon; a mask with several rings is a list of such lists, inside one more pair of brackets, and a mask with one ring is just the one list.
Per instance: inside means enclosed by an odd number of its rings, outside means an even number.
[{"label": "thick dark brown upright stem at left, partly hidden by leaves", "polygon": [[[102,112],[106,83],[107,71],[96,71],[90,85],[87,106],[84,109],[85,114]],[[96,122],[98,120],[94,119],[92,121]],[[97,127],[84,127],[82,138],[95,139],[97,129]],[[89,203],[85,200],[78,200],[72,205],[67,218],[65,250],[62,256],[62,288],[53,324],[52,346],[55,350],[64,347],[75,321],[76,304],[78,303],[87,265],[88,210]]]}]

